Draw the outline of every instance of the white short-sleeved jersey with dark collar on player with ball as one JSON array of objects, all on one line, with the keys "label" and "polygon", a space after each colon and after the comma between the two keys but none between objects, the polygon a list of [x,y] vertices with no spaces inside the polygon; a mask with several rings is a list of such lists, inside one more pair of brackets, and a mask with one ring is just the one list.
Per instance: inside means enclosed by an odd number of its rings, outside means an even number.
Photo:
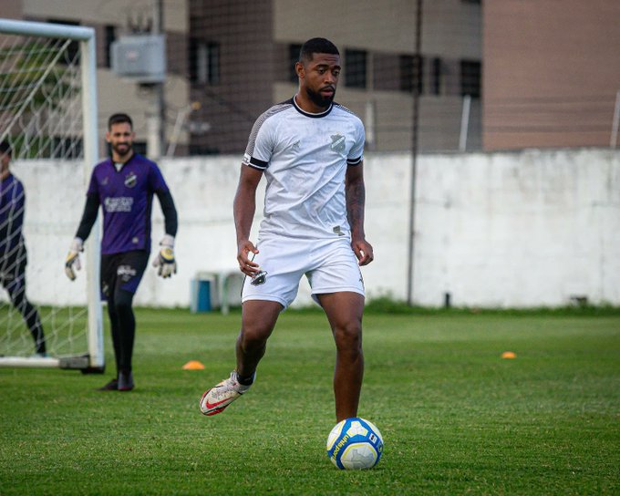
[{"label": "white short-sleeved jersey with dark collar on player with ball", "polygon": [[267,181],[259,238],[350,237],[345,175],[364,159],[364,139],[362,121],[337,103],[311,114],[291,98],[256,119],[243,164]]}]

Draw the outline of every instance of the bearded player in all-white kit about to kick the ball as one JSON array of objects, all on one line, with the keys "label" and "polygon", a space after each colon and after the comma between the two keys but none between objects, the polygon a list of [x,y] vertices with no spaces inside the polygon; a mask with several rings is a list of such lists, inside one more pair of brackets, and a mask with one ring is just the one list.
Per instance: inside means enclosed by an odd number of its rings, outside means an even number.
[{"label": "bearded player in all-white kit about to kick the ball", "polygon": [[[336,421],[357,416],[364,375],[364,282],[373,260],[364,233],[364,125],[334,102],[340,75],[336,46],[305,42],[295,64],[299,90],[253,125],[234,198],[237,261],[246,274],[237,364],[206,391],[202,414],[222,412],[253,384],[278,315],[308,278],[336,342]],[[250,241],[256,188],[267,181],[258,241]]]}]

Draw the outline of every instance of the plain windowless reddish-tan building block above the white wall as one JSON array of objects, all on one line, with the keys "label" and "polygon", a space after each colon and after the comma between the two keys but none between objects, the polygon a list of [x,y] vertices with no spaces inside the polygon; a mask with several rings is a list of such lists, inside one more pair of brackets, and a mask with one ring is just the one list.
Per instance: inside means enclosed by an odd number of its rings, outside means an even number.
[{"label": "plain windowless reddish-tan building block above the white wall", "polygon": [[610,146],[620,2],[490,1],[483,18],[484,150]]}]

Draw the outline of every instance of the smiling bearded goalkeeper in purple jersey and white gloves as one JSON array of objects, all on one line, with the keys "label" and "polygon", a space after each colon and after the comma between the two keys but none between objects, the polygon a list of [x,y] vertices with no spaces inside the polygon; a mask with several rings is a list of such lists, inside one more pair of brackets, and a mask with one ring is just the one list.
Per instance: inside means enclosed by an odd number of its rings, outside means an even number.
[{"label": "smiling bearded goalkeeper in purple jersey and white gloves", "polygon": [[98,163],[90,177],[86,205],[78,232],[71,243],[65,272],[71,280],[80,269],[79,253],[103,212],[101,240],[101,294],[108,300],[108,315],[117,375],[101,391],[130,391],[134,387],[131,360],[136,334],[133,296],[138,290],[150,254],[150,212],[156,194],[163,212],[165,234],[153,265],[161,277],[176,273],[174,237],[177,211],[171,191],[157,164],[133,150],[135,133],[127,114],[108,121],[106,140],[111,157]]}]

